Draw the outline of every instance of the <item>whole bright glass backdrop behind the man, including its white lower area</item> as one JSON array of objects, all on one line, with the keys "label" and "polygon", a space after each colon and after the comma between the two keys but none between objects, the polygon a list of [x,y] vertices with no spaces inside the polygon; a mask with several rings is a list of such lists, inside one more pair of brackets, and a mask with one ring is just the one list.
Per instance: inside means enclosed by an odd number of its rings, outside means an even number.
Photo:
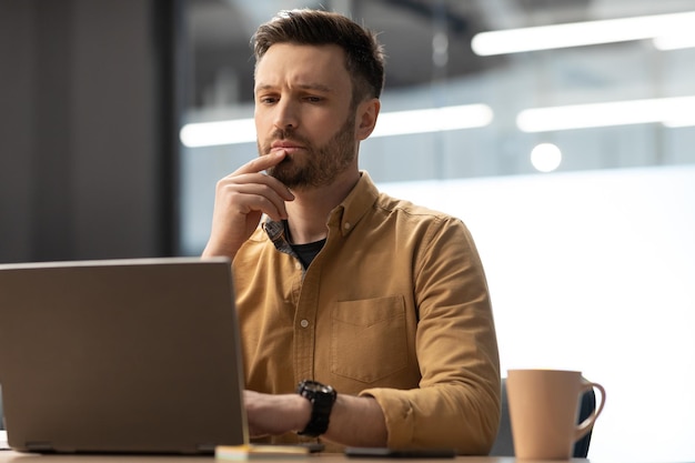
[{"label": "whole bright glass backdrop behind the man, including its white lower area", "polygon": [[[695,0],[321,3],[380,32],[386,88],[361,165],[471,228],[503,369],[606,386],[590,457],[695,459]],[[181,253],[204,246],[215,182],[258,155],[253,30],[316,6],[188,0]]]}]

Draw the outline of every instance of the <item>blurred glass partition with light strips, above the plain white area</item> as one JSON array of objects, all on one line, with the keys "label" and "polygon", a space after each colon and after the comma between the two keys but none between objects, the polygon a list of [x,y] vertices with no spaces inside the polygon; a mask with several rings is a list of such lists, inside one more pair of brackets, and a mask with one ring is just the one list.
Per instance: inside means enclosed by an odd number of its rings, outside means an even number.
[{"label": "blurred glass partition with light strips, above the plain white area", "polygon": [[[689,32],[695,1],[322,4],[377,31],[386,47],[382,115],[360,155],[376,182],[695,162],[695,40]],[[195,254],[204,244],[216,179],[256,155],[250,37],[280,9],[303,7],[316,4],[188,0],[183,253]],[[544,29],[548,26],[556,29]],[[517,36],[490,34],[510,29]],[[524,34],[534,31],[541,36],[532,51],[504,48],[523,48],[533,40]],[[578,41],[566,39],[572,34]],[[455,112],[472,107],[483,110]],[[380,137],[390,118],[396,134]],[[239,120],[249,129],[213,134],[200,125]]]}]

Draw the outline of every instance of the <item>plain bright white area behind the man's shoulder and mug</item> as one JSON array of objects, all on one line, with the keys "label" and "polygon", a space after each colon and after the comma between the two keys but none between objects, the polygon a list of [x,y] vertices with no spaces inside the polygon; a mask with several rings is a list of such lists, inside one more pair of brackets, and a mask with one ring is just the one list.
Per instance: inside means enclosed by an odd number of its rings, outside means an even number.
[{"label": "plain bright white area behind the man's shoulder and mug", "polygon": [[607,390],[590,457],[695,460],[695,167],[383,183],[481,252],[503,372]]}]

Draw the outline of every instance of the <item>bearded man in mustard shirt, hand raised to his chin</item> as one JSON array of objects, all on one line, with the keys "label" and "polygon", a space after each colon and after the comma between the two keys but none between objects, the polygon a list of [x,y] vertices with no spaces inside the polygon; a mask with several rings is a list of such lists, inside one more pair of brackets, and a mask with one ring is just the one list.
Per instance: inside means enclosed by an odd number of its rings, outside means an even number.
[{"label": "bearded man in mustard shirt, hand raised to his chin", "polygon": [[486,454],[500,368],[469,231],[357,168],[381,46],[313,10],[281,12],[253,43],[260,157],[218,183],[203,252],[233,262],[252,435]]}]

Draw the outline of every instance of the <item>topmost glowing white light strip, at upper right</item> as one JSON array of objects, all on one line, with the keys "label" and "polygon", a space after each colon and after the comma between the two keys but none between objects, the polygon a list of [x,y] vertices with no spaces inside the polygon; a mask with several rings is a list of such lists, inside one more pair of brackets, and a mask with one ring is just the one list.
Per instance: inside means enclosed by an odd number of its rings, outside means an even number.
[{"label": "topmost glowing white light strip, at upper right", "polygon": [[471,47],[482,57],[598,43],[655,39],[672,33],[689,36],[695,12],[608,19],[481,32]]}]

